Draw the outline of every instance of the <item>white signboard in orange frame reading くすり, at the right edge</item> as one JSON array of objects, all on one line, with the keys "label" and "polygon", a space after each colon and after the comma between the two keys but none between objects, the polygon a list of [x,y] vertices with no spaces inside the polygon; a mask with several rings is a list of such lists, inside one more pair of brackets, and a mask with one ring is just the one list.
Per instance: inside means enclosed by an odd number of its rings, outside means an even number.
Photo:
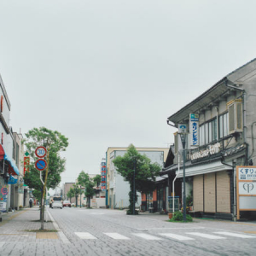
[{"label": "white signboard in orange frame reading \u304f\u3059\u308a, at the right edge", "polygon": [[256,166],[236,166],[237,219],[241,211],[256,211]]}]

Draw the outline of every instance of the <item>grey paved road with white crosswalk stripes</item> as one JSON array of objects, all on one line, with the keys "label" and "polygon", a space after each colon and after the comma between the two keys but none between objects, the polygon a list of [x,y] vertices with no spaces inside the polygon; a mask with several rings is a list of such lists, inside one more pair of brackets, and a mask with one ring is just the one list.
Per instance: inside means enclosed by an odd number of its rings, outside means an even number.
[{"label": "grey paved road with white crosswalk stripes", "polygon": [[[256,255],[256,224],[208,220],[173,224],[166,222],[166,215],[48,210],[53,220],[49,224],[59,230],[57,239],[25,234],[22,241],[1,241],[0,236],[0,255]],[[11,221],[18,223],[25,214]]]}]

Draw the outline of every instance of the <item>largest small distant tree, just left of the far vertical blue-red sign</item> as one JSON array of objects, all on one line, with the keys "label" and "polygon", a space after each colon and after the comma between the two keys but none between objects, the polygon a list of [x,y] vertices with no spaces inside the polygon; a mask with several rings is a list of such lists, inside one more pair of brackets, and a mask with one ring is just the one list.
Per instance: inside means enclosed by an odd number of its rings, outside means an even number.
[{"label": "largest small distant tree, just left of the far vertical blue-red sign", "polygon": [[95,195],[94,186],[96,185],[97,181],[99,180],[99,178],[97,176],[95,178],[96,179],[91,180],[89,174],[85,173],[84,171],[80,172],[79,177],[78,177],[79,184],[85,188],[84,195],[87,198],[87,207],[88,208],[90,208],[90,199],[93,197],[93,195]]}]

